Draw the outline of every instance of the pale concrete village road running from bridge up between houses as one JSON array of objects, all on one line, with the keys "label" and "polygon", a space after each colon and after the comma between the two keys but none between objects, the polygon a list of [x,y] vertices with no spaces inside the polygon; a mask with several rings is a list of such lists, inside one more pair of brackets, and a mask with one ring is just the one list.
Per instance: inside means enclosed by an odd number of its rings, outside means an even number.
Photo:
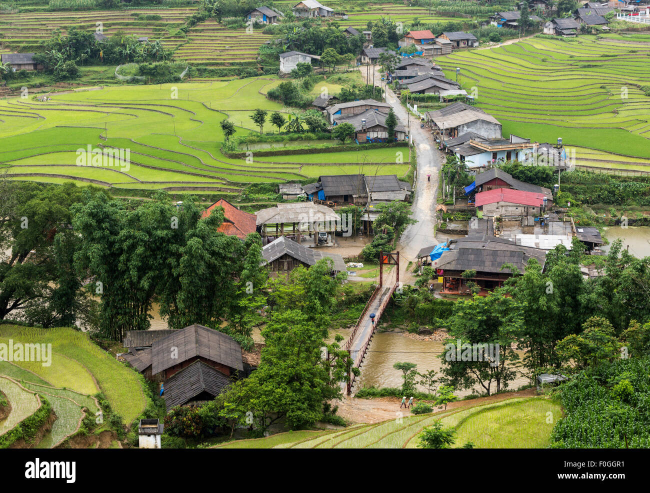
[{"label": "pale concrete village road running from bridge up between houses", "polygon": [[[382,81],[379,68],[376,68],[375,81]],[[361,70],[365,76],[365,70]],[[382,81],[383,83],[383,81]],[[400,250],[400,281],[411,284],[415,278],[412,272],[406,272],[406,265],[409,261],[415,263],[417,252],[421,248],[435,245],[434,224],[435,205],[438,193],[438,172],[444,161],[443,153],[437,148],[434,138],[427,127],[421,128],[420,121],[413,114],[408,115],[406,108],[402,106],[395,93],[385,87],[386,101],[393,107],[395,116],[400,124],[410,127],[409,133],[415,142],[417,152],[417,173],[415,175],[413,199],[413,219],[416,224],[408,226],[402,234],[398,250]],[[426,175],[431,175],[431,181],[426,180]],[[410,269],[413,270],[412,268]]]}]

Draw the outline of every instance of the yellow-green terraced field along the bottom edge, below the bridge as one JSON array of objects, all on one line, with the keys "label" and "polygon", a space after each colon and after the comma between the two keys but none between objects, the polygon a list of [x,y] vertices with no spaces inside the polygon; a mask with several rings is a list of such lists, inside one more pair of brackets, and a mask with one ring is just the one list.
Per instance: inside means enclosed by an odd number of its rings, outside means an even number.
[{"label": "yellow-green terraced field along the bottom edge, below the bridge", "polygon": [[311,432],[299,440],[292,439],[290,433],[280,433],[258,440],[229,442],[221,447],[417,448],[417,436],[422,429],[440,421],[456,431],[454,447],[473,442],[476,448],[544,448],[549,444],[552,427],[560,413],[560,406],[544,397],[515,397],[374,425],[359,424],[340,431]]}]

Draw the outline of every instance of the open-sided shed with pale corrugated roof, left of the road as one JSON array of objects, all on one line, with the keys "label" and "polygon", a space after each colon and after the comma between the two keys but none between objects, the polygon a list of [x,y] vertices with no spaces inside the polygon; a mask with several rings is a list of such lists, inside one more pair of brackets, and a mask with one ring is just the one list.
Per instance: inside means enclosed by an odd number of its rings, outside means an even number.
[{"label": "open-sided shed with pale corrugated roof, left of the road", "polygon": [[278,204],[255,214],[264,243],[270,243],[280,236],[288,236],[300,244],[307,241],[316,247],[319,232],[334,233],[341,230],[339,215],[330,207],[313,202]]}]

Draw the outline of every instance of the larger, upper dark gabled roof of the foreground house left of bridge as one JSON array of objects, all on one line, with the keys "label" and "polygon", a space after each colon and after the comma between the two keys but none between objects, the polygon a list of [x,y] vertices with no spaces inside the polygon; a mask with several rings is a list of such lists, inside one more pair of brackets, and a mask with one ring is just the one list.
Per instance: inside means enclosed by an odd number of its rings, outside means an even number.
[{"label": "larger, upper dark gabled roof of the foreground house left of bridge", "polygon": [[[218,296],[218,293],[214,293]],[[176,350],[172,353],[172,348]],[[175,358],[172,358],[175,354]],[[201,356],[234,369],[242,370],[242,349],[233,338],[203,325],[190,325],[151,344],[151,374]]]}]

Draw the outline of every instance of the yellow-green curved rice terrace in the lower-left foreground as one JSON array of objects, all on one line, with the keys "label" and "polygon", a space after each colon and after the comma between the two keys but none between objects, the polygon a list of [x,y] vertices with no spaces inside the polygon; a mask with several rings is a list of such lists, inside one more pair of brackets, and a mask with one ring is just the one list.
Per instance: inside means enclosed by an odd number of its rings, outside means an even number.
[{"label": "yellow-green curved rice terrace in the lower-left foreground", "polygon": [[[40,381],[34,379],[32,374],[27,371],[21,375],[28,382],[42,384],[43,380],[47,380],[47,384],[50,386],[67,387],[68,390],[75,393],[66,393],[62,390],[55,392],[47,389],[39,390],[39,392],[53,393],[67,399],[72,398],[81,406],[96,407],[92,403],[92,399],[88,400],[87,395],[98,392],[99,388],[99,391],[106,395],[113,410],[120,414],[127,424],[140,416],[146,407],[144,390],[135,371],[117,362],[109,353],[92,343],[83,332],[72,328],[40,329],[0,325],[0,341],[6,343],[6,340],[9,339],[21,343],[51,343],[52,351],[55,353],[51,366],[44,367],[40,363],[24,365],[22,362],[17,362],[23,371],[29,369],[36,373]],[[56,354],[61,357],[57,358]],[[3,363],[3,366],[0,366],[0,374],[4,374],[3,371],[7,368],[6,362]],[[16,373],[18,371],[8,368],[9,375],[14,378],[20,377],[20,374]],[[60,371],[63,377],[58,377],[57,371]],[[72,371],[78,372],[77,379],[71,373]],[[93,384],[92,388],[88,384],[88,378]],[[81,396],[74,397],[78,394]],[[79,399],[82,399],[83,402],[79,402]]]}]

